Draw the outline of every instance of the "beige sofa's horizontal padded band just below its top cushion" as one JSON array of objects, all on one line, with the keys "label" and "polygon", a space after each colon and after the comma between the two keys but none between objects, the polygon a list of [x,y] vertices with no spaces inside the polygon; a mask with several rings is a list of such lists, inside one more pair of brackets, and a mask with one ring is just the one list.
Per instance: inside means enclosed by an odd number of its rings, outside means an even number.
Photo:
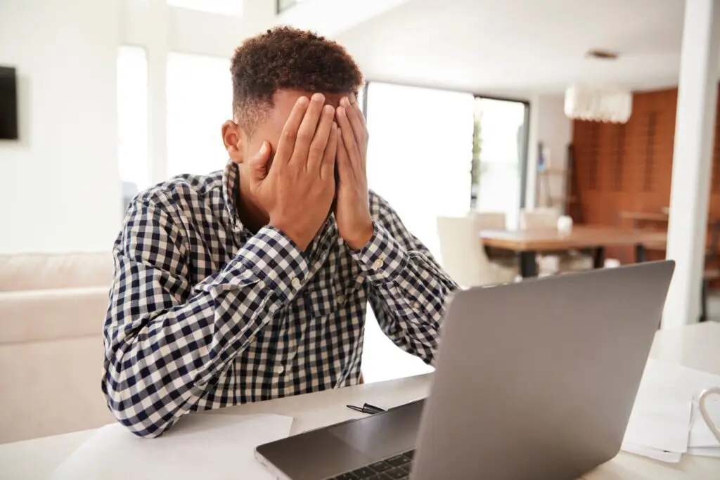
[{"label": "beige sofa's horizontal padded band just below its top cushion", "polygon": [[109,286],[0,292],[0,345],[102,335]]}]

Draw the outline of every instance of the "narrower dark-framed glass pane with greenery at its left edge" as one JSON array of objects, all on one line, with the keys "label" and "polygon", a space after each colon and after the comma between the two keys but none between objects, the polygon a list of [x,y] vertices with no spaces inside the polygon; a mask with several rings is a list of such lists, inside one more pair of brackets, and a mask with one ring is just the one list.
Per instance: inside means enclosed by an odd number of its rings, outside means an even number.
[{"label": "narrower dark-framed glass pane with greenery at its left edge", "polygon": [[505,212],[508,225],[516,225],[521,208],[527,108],[520,101],[475,98],[474,207]]}]

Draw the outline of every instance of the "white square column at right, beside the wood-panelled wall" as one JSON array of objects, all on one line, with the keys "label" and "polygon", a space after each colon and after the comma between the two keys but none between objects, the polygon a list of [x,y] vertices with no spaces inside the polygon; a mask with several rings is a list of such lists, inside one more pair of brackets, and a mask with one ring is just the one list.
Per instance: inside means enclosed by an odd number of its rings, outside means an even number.
[{"label": "white square column at right, beside the wood-panelled wall", "polygon": [[662,327],[697,322],[700,312],[715,128],[720,0],[686,0],[678,113],[672,155],[667,258],[675,275]]}]

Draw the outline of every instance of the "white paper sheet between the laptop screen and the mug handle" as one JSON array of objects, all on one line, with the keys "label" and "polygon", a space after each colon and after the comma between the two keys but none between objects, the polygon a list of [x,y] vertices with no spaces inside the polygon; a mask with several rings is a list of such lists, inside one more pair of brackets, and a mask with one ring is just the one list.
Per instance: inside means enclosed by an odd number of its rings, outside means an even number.
[{"label": "white paper sheet between the laptop screen and the mug handle", "polygon": [[684,453],[691,412],[692,402],[684,389],[643,380],[621,448],[632,453],[639,453],[637,447]]}]

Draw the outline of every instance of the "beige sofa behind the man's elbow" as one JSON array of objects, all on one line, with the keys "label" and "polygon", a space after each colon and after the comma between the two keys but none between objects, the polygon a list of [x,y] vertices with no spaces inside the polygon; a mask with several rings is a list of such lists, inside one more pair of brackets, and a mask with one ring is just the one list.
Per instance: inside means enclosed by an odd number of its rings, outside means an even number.
[{"label": "beige sofa behind the man's elbow", "polygon": [[113,421],[100,391],[109,253],[0,255],[0,443]]}]

